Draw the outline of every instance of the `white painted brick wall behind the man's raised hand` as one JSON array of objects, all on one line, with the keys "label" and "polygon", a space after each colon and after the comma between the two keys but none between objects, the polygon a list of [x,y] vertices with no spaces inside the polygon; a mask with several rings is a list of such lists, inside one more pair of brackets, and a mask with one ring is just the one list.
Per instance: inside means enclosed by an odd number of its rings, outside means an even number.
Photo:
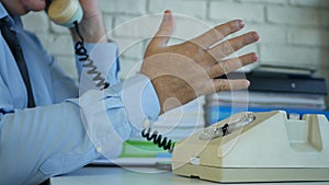
[{"label": "white painted brick wall behind the man's raised hand", "polygon": [[[218,23],[242,19],[246,31],[257,30],[261,39],[241,53],[257,51],[261,63],[316,68],[329,84],[329,0],[100,0],[100,4],[107,31],[116,27],[110,37],[121,47],[129,46],[121,50],[122,78],[140,63],[148,38],[159,22],[159,18],[137,22],[133,19],[170,9],[185,15],[177,15],[177,38],[172,43]],[[48,22],[44,13],[31,13],[23,21],[65,70],[77,78],[71,72],[73,49],[68,31]]]}]

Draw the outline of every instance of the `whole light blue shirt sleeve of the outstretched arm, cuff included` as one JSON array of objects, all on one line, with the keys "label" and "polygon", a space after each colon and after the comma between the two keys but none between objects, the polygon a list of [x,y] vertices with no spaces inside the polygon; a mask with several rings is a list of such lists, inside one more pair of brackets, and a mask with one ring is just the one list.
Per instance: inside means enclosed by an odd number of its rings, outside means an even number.
[{"label": "whole light blue shirt sleeve of the outstretched arm, cuff included", "polygon": [[60,104],[5,112],[0,118],[0,184],[37,184],[101,154],[116,158],[132,130],[146,118],[157,119],[160,107],[150,80],[137,74]]}]

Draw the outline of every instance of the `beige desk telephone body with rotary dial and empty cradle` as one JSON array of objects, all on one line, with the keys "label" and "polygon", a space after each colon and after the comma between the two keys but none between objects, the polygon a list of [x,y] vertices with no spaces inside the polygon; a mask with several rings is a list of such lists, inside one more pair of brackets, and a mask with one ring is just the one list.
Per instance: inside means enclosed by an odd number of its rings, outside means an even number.
[{"label": "beige desk telephone body with rotary dial and empty cradle", "polygon": [[239,113],[177,142],[172,172],[220,183],[329,182],[329,123],[283,111]]}]

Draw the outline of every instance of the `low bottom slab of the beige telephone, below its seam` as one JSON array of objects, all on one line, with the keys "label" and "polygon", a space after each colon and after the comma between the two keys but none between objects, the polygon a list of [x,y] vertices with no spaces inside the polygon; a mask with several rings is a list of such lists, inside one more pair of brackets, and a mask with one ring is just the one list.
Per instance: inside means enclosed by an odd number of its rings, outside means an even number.
[{"label": "low bottom slab of the beige telephone, below its seam", "polygon": [[182,176],[218,183],[328,182],[329,169],[215,167],[185,164],[175,169]]}]

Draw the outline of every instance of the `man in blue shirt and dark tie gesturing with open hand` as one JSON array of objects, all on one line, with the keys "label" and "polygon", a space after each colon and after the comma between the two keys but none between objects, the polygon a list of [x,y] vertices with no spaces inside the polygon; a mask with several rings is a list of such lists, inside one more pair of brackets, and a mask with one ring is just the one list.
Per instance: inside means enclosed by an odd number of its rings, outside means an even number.
[{"label": "man in blue shirt and dark tie gesturing with open hand", "polygon": [[[224,59],[257,42],[256,32],[216,45],[243,27],[240,20],[218,25],[182,44],[167,46],[173,16],[166,11],[159,31],[147,47],[140,73],[118,82],[117,48],[104,37],[98,2],[79,2],[83,10],[79,24],[81,35],[86,46],[93,48],[91,58],[106,66],[102,73],[109,70],[106,81],[110,83],[103,91],[87,89],[80,91],[80,95],[79,88],[64,74],[34,34],[22,26],[20,16],[43,11],[45,0],[0,1],[0,19],[7,20],[4,26],[1,23],[0,35],[0,184],[38,184],[81,167],[100,155],[115,158],[122,142],[133,129],[141,129],[145,119],[156,120],[159,114],[204,94],[249,85],[243,79],[216,79],[258,58],[250,53]],[[4,36],[5,27],[19,38],[27,80]],[[75,30],[71,35],[75,42],[79,41]],[[79,73],[83,73],[81,63],[77,62]]]}]

